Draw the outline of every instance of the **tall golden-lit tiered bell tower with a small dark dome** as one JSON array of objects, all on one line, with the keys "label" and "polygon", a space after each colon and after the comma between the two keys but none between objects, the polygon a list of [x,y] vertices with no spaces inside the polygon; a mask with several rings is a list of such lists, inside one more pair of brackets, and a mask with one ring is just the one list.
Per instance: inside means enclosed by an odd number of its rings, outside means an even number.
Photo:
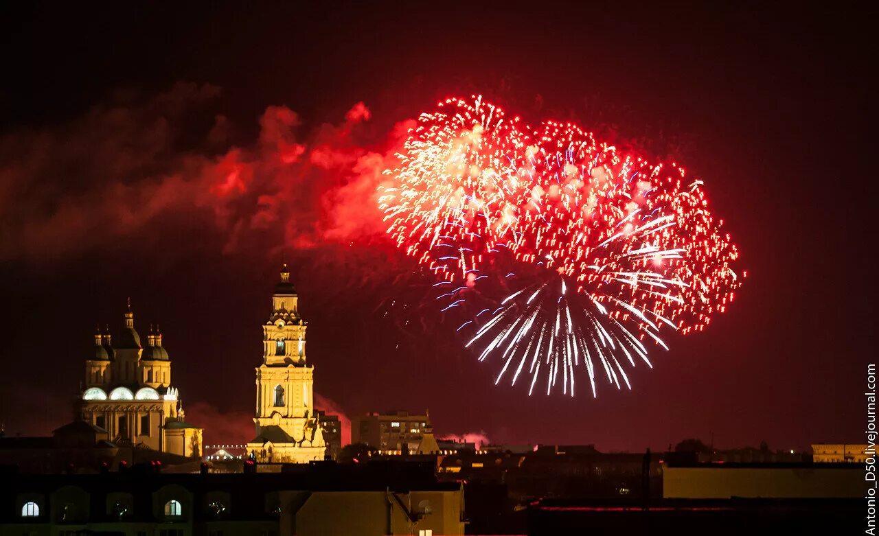
[{"label": "tall golden-lit tiered bell tower with a small dark dome", "polygon": [[326,443],[314,405],[314,366],[305,358],[306,325],[287,264],[272,294],[272,313],[263,324],[263,362],[256,369],[257,437],[247,455],[259,462],[323,460]]}]

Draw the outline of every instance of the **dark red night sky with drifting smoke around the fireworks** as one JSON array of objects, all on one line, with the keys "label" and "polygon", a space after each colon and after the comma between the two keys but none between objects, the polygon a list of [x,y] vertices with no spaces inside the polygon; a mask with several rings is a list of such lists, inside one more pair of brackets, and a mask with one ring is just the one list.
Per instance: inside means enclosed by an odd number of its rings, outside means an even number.
[{"label": "dark red night sky with drifting smoke around the fireworks", "polygon": [[[316,393],[349,416],[429,408],[439,434],[608,451],[862,440],[867,13],[309,4],[0,8],[7,434],[69,420],[95,324],[118,329],[130,296],[187,420],[251,439],[285,255]],[[406,121],[475,92],[684,163],[742,251],[737,301],[653,350],[631,391],[495,387],[377,232],[363,199]]]}]

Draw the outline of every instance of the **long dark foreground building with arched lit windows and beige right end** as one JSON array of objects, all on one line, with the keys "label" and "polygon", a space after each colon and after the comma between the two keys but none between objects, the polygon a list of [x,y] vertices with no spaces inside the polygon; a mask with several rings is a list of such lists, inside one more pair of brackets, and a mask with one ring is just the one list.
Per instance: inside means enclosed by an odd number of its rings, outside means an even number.
[{"label": "long dark foreground building with arched lit windows and beige right end", "polygon": [[460,483],[432,467],[317,462],[280,473],[0,474],[0,535],[463,534]]}]

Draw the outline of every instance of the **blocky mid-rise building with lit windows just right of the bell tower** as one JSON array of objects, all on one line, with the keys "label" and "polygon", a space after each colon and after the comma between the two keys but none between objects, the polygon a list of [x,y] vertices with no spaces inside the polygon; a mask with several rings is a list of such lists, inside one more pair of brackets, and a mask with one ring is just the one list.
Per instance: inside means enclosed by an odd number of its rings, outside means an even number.
[{"label": "blocky mid-rise building with lit windows just right of the bell tower", "polygon": [[366,443],[380,451],[414,451],[430,424],[427,411],[424,415],[410,415],[408,411],[368,413],[352,419],[351,441]]}]

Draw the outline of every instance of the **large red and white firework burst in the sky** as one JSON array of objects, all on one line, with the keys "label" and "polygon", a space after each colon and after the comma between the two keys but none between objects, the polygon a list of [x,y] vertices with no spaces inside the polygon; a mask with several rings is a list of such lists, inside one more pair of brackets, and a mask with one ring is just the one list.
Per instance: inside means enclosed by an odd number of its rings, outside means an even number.
[{"label": "large red and white firework burst in the sky", "polygon": [[593,396],[602,377],[631,388],[622,363],[651,366],[645,341],[704,330],[741,285],[701,180],[570,123],[449,98],[397,156],[387,232],[437,278],[440,310],[465,312],[458,331],[497,357],[496,383],[529,373],[532,394],[542,371],[547,394],[573,396],[585,367]]}]

